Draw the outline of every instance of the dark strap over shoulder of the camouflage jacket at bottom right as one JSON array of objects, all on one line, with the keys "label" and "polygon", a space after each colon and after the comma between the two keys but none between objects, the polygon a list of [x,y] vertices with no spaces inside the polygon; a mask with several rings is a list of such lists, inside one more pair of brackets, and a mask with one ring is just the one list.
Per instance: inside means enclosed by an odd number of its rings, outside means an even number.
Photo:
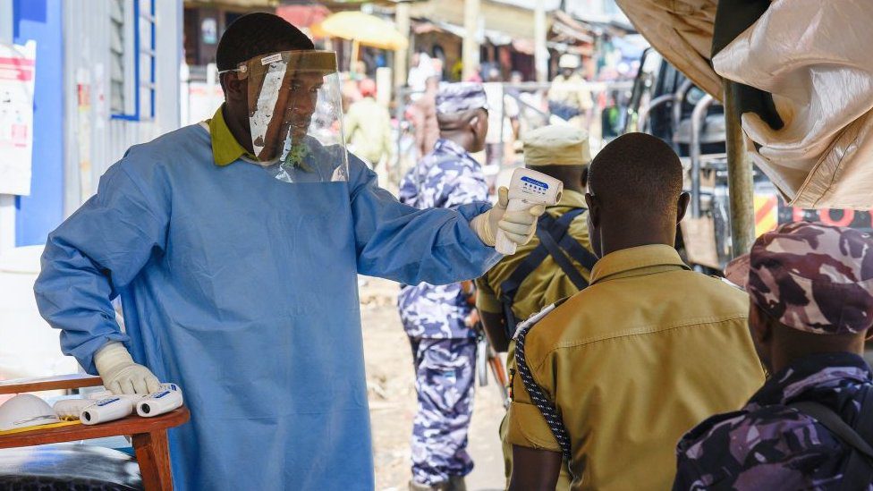
[{"label": "dark strap over shoulder of the camouflage jacket at bottom right", "polygon": [[[873,419],[873,414],[870,414],[870,411],[873,410],[871,407],[873,406],[873,397],[870,397],[870,394],[873,394],[873,391],[867,391],[864,394],[859,411],[858,426],[866,429],[870,428],[870,419]],[[843,443],[852,447],[852,453],[843,468],[841,489],[867,489],[873,483],[873,447],[854,428],[843,421],[840,415],[826,405],[812,401],[791,402],[788,407],[816,419],[828,431],[843,440]]]}]

